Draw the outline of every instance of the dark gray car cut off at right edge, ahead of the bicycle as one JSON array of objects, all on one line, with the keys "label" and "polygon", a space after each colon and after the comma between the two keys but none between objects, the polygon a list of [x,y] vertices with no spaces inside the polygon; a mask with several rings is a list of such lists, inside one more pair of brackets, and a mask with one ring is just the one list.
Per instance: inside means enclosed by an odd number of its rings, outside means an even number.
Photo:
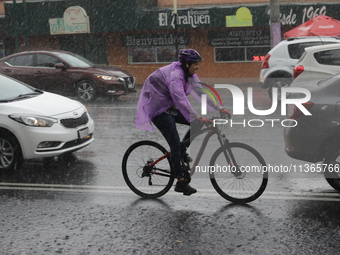
[{"label": "dark gray car cut off at right edge, ahead of the bicycle", "polygon": [[289,106],[296,126],[284,128],[285,151],[292,158],[316,163],[314,170],[324,172],[329,184],[340,191],[340,74],[295,86],[310,90],[311,99],[304,106],[312,115]]}]

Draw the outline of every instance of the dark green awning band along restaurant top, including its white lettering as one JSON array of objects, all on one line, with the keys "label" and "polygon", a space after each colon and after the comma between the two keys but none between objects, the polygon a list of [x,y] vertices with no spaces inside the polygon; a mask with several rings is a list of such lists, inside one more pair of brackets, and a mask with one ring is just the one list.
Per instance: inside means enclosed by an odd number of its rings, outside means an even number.
[{"label": "dark green awning band along restaurant top, including its white lettering", "polygon": [[[150,4],[152,2],[152,4]],[[146,4],[144,4],[146,3]],[[148,4],[149,3],[149,4]],[[147,6],[148,5],[148,6]],[[67,8],[79,6],[89,17],[91,33],[166,30],[174,28],[172,9],[148,9],[154,0],[55,0],[5,2],[5,34],[49,35]],[[178,9],[180,29],[269,27],[269,5],[214,6]],[[281,25],[295,27],[316,15],[340,20],[340,3],[285,4]]]}]

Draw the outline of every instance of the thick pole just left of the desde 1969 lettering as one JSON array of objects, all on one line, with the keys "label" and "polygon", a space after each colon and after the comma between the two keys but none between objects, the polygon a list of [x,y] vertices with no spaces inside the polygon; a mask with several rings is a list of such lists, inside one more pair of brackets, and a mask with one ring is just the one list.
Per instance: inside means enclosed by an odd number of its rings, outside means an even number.
[{"label": "thick pole just left of the desde 1969 lettering", "polygon": [[280,3],[269,0],[270,5],[270,39],[272,48],[281,42]]}]

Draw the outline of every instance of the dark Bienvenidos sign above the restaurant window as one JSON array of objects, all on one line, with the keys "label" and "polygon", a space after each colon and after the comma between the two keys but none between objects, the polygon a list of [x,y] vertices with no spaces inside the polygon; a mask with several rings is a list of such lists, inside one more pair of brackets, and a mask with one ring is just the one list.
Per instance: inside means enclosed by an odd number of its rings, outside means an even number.
[{"label": "dark Bienvenidos sign above the restaurant window", "polygon": [[[177,39],[178,38],[178,39]],[[146,34],[126,35],[123,37],[123,46],[165,46],[165,45],[188,45],[188,34]]]}]

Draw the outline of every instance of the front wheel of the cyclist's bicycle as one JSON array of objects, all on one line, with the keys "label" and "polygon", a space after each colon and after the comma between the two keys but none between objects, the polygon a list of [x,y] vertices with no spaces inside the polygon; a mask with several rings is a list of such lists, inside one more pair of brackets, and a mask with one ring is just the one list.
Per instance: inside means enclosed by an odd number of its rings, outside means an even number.
[{"label": "front wheel of the cyclist's bicycle", "polygon": [[230,143],[229,148],[221,147],[213,154],[209,172],[211,183],[222,197],[231,202],[254,201],[267,186],[266,163],[261,154],[247,144]]}]

